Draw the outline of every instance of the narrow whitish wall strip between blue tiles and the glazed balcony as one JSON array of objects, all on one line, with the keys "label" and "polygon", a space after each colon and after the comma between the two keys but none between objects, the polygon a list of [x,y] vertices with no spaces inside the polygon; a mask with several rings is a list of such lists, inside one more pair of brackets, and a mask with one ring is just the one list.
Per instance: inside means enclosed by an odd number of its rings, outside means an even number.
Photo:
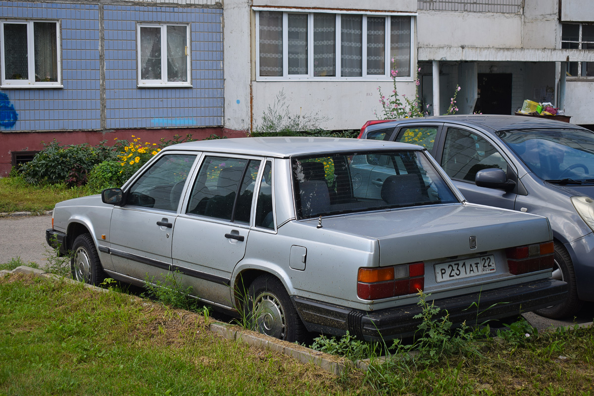
[{"label": "narrow whitish wall strip between blue tiles and the glazed balcony", "polygon": [[251,81],[251,10],[249,0],[225,0],[223,45],[225,128],[249,131]]}]

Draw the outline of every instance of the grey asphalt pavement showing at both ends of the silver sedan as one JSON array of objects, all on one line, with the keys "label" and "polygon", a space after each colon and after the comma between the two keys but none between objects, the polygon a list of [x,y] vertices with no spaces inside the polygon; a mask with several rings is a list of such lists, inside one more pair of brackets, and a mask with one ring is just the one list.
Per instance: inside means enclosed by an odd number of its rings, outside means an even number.
[{"label": "grey asphalt pavement showing at both ends of the silver sedan", "polygon": [[[52,227],[51,216],[0,217],[0,264],[20,257],[24,263],[36,262],[40,268],[48,264],[49,246],[45,241],[45,230]],[[543,318],[535,313],[524,317],[539,330],[549,327],[592,324],[594,303],[586,303],[576,317],[563,321]]]}]

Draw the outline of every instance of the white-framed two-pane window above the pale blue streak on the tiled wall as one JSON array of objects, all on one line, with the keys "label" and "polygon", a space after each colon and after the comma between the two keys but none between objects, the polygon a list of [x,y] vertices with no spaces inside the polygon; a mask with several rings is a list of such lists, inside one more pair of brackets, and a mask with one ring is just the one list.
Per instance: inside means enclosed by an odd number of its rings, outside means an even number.
[{"label": "white-framed two-pane window above the pale blue streak on the tiled wall", "polygon": [[139,85],[191,85],[187,26],[139,25],[138,43]]}]

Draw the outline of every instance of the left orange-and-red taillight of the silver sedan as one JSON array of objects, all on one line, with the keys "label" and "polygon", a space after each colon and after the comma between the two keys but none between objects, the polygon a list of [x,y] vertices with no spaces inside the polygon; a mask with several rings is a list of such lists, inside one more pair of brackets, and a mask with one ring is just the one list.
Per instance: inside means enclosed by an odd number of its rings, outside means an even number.
[{"label": "left orange-and-red taillight of the silver sedan", "polygon": [[364,300],[415,294],[425,287],[425,264],[413,262],[382,268],[359,268],[357,296]]}]

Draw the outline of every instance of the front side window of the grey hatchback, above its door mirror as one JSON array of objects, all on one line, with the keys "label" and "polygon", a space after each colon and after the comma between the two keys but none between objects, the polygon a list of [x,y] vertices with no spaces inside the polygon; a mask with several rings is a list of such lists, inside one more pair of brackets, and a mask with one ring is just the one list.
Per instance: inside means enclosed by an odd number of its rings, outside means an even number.
[{"label": "front side window of the grey hatchback, above its door mirror", "polygon": [[476,172],[482,169],[500,168],[507,172],[507,162],[491,143],[458,128],[447,130],[441,166],[450,178],[469,182],[474,182]]}]

